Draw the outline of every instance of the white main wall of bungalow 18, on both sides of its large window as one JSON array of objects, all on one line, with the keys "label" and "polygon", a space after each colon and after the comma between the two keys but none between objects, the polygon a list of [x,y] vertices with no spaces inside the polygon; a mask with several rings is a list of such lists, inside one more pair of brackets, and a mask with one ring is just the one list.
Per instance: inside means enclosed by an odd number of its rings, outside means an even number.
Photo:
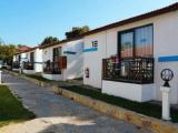
[{"label": "white main wall of bungalow 18, on both sides of its large window", "polygon": [[[134,22],[107,31],[102,31],[96,34],[85,37],[85,49],[91,47],[91,41],[98,40],[98,51],[85,53],[83,66],[89,66],[90,78],[83,76],[85,84],[89,84],[96,88],[102,88],[101,83],[101,59],[109,58],[117,54],[118,47],[118,32],[146,25],[154,24],[154,58],[155,58],[155,100],[161,100],[161,93],[159,86],[162,84],[160,79],[160,70],[165,68],[171,68],[175,72],[175,79],[171,82],[171,103],[178,103],[178,82],[177,82],[177,69],[178,63],[158,62],[158,58],[162,55],[178,55],[178,11],[166,13],[159,17],[150,18],[147,20]],[[96,74],[97,73],[97,74]],[[101,85],[102,84],[102,85]],[[119,88],[119,86],[118,86]],[[112,88],[110,86],[110,90]],[[150,95],[151,96],[151,95]]]}]

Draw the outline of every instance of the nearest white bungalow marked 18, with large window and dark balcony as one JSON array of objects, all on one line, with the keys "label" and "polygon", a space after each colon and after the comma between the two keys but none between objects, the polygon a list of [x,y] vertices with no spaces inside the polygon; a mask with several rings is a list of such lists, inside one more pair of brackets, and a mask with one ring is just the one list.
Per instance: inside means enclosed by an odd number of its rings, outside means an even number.
[{"label": "nearest white bungalow marked 18, with large window and dark balcony", "polygon": [[164,69],[178,103],[178,3],[85,34],[83,83],[132,101],[161,101]]}]

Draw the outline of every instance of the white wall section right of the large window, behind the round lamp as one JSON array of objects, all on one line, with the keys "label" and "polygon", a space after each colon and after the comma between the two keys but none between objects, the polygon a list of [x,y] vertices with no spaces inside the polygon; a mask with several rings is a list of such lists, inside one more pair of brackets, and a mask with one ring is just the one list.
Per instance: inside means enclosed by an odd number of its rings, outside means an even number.
[{"label": "white wall section right of the large window, behind the round lamp", "polygon": [[178,62],[158,62],[159,57],[178,55],[178,11],[169,13],[155,21],[155,83],[156,100],[161,100],[159,86],[164,84],[160,72],[164,69],[171,69],[175,73],[170,82],[170,102],[178,103]]}]

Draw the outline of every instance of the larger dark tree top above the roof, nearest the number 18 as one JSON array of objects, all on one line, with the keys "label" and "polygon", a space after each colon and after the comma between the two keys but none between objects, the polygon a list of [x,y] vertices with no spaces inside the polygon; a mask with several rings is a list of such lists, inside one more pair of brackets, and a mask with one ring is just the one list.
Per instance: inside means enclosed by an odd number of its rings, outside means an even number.
[{"label": "larger dark tree top above the roof, nearest the number 18", "polygon": [[73,27],[71,29],[71,31],[66,32],[66,38],[67,39],[75,38],[75,37],[78,37],[78,35],[80,35],[82,33],[88,32],[89,30],[90,30],[90,28],[88,25],[83,25],[81,28],[80,27]]}]

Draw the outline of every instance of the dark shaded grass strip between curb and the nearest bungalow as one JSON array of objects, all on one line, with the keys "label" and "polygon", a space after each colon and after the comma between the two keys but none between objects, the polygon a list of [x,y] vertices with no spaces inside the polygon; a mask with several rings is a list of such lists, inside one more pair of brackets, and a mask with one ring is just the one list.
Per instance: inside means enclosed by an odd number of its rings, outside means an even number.
[{"label": "dark shaded grass strip between curb and the nearest bungalow", "polygon": [[[77,86],[77,85],[71,85],[71,86],[69,85],[69,86],[61,86],[61,88],[79,93],[79,94],[82,94],[82,95],[86,95],[86,96],[90,96],[96,100],[100,100],[100,101],[130,110],[130,111],[135,111],[140,114],[145,114],[147,116],[161,119],[161,106],[152,104],[152,103],[134,102],[134,101],[129,101],[122,98],[102,94],[99,91],[89,90],[89,89],[85,89],[82,86]],[[171,109],[171,119],[174,123],[178,122],[178,111],[175,109]]]}]

